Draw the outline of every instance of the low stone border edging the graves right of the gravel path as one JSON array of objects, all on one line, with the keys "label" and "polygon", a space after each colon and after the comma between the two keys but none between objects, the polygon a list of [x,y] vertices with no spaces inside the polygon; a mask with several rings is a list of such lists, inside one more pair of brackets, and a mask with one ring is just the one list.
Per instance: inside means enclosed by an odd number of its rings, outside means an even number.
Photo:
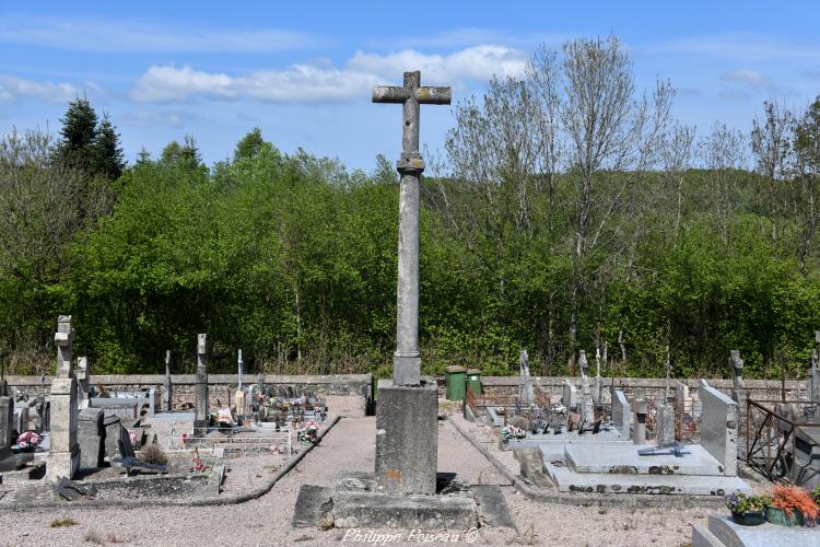
[{"label": "low stone border edging the graves right of the gravel path", "polygon": [[558,490],[541,490],[532,488],[531,482],[519,475],[511,473],[507,467],[494,455],[473,439],[456,420],[449,420],[461,437],[483,455],[501,473],[512,486],[524,496],[534,501],[543,503],[560,503],[579,507],[607,507],[607,508],[661,508],[661,509],[694,509],[694,508],[722,508],[724,499],[722,496],[663,496],[640,493],[564,493]]}]

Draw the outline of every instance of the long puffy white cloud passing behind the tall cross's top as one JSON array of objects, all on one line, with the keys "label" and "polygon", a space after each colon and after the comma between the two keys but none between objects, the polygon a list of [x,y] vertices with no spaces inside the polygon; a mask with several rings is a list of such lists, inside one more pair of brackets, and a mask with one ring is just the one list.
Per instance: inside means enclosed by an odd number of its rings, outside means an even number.
[{"label": "long puffy white cloud passing behind the tall cross's top", "polygon": [[231,75],[187,65],[153,66],[137,80],[131,97],[155,103],[195,96],[221,100],[247,96],[280,103],[348,101],[367,97],[373,85],[400,80],[405,70],[421,70],[424,84],[460,88],[467,80],[488,81],[494,74],[520,75],[525,63],[524,54],[517,49],[484,45],[450,55],[425,55],[412,49],[388,55],[358,51],[343,69],[323,62]]}]

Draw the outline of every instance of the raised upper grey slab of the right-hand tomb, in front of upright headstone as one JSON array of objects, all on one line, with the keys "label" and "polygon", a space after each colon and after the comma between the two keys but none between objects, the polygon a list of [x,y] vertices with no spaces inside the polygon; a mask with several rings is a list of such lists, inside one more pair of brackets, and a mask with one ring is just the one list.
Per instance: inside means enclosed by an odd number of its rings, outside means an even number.
[{"label": "raised upper grey slab of the right-hand tomb, in front of upright headstone", "polygon": [[570,445],[565,462],[576,473],[613,473],[617,475],[718,475],[723,465],[698,444],[687,446],[681,457],[673,454],[641,456],[637,451],[648,445]]}]

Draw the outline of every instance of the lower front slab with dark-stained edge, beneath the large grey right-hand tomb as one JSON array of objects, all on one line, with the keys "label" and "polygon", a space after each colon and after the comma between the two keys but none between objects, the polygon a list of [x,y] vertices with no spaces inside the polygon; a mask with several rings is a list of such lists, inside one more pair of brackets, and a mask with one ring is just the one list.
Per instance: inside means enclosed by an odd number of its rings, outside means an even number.
[{"label": "lower front slab with dark-stained edge, beneath the large grey right-hand tomb", "polygon": [[669,496],[725,496],[734,491],[751,493],[751,487],[738,477],[575,473],[554,463],[547,463],[544,467],[561,492]]}]

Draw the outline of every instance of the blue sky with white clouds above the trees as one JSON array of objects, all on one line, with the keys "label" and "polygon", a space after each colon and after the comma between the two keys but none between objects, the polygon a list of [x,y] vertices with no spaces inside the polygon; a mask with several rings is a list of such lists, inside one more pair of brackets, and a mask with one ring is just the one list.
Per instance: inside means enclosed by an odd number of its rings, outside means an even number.
[{"label": "blue sky with white clouds above the trees", "polygon": [[[190,133],[211,163],[259,126],[285,152],[372,171],[401,147],[401,108],[371,104],[372,85],[421,69],[459,101],[519,73],[539,44],[609,34],[639,88],[660,77],[678,89],[682,123],[747,131],[764,100],[804,107],[820,93],[819,15],[812,1],[0,0],[0,133],[56,132],[85,92],[129,160]],[[422,107],[422,143],[441,148],[452,124],[450,108]]]}]

